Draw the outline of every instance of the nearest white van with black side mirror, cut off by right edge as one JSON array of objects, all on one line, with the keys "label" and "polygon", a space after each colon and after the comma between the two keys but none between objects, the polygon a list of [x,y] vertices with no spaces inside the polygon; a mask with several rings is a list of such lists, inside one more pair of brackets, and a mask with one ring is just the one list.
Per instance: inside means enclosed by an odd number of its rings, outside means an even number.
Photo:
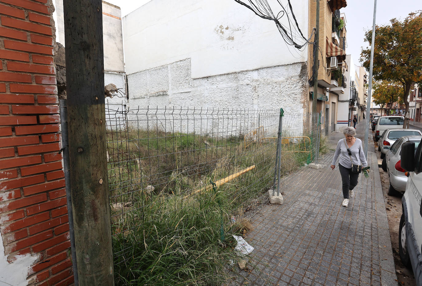
[{"label": "nearest white van with black side mirror, cut off by right edge", "polygon": [[422,285],[422,140],[415,154],[415,143],[403,143],[401,167],[408,175],[402,197],[403,214],[399,228],[399,253],[403,264],[411,264],[416,285]]}]

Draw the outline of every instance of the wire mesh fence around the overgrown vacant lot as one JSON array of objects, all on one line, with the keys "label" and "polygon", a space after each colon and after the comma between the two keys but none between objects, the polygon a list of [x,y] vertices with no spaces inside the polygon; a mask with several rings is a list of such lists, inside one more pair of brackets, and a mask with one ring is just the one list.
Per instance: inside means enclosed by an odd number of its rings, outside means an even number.
[{"label": "wire mesh fence around the overgrown vacant lot", "polygon": [[312,127],[317,115],[282,114],[282,109],[107,108],[106,118],[115,267],[130,264],[135,245],[147,252],[163,237],[183,240],[180,228],[187,229],[189,218],[195,221],[192,209],[203,211],[189,234],[204,224],[213,233],[204,240],[225,240],[268,201],[269,189],[278,184],[280,192],[289,191],[295,170],[317,156],[317,127]]}]

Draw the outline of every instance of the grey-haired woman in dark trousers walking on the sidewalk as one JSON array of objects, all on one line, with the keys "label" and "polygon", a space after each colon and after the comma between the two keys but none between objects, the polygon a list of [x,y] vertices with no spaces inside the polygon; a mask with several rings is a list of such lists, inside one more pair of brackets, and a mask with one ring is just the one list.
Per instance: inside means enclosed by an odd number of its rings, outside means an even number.
[{"label": "grey-haired woman in dark trousers walking on the sidewalk", "polygon": [[335,162],[339,158],[338,169],[340,170],[343,189],[343,202],[341,205],[347,207],[349,205],[349,195],[350,197],[354,196],[353,189],[357,185],[360,170],[362,167],[367,167],[368,163],[363,153],[362,140],[354,137],[356,135],[354,128],[344,128],[343,134],[344,138],[338,140],[337,148],[335,148],[331,169],[334,170]]}]

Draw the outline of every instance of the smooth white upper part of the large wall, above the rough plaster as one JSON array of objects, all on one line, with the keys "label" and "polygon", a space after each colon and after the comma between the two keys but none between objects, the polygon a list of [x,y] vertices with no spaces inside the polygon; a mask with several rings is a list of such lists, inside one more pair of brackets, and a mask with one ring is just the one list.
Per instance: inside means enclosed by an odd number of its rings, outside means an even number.
[{"label": "smooth white upper part of the large wall, above the rough plaster", "polygon": [[[292,6],[308,35],[308,1]],[[287,47],[272,21],[233,0],[152,0],[123,17],[123,34],[127,74],[190,58],[191,77],[203,78],[306,62],[308,53]]]}]

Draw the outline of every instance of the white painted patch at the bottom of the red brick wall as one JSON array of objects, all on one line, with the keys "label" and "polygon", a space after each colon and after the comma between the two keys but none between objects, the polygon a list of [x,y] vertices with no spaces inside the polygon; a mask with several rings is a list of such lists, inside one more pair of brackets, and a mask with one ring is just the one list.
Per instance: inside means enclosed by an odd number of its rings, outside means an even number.
[{"label": "white painted patch at the bottom of the red brick wall", "polygon": [[28,270],[38,260],[38,255],[16,255],[9,259],[13,261],[9,262],[5,256],[3,237],[0,233],[0,285],[27,286],[30,283],[27,280]]}]

